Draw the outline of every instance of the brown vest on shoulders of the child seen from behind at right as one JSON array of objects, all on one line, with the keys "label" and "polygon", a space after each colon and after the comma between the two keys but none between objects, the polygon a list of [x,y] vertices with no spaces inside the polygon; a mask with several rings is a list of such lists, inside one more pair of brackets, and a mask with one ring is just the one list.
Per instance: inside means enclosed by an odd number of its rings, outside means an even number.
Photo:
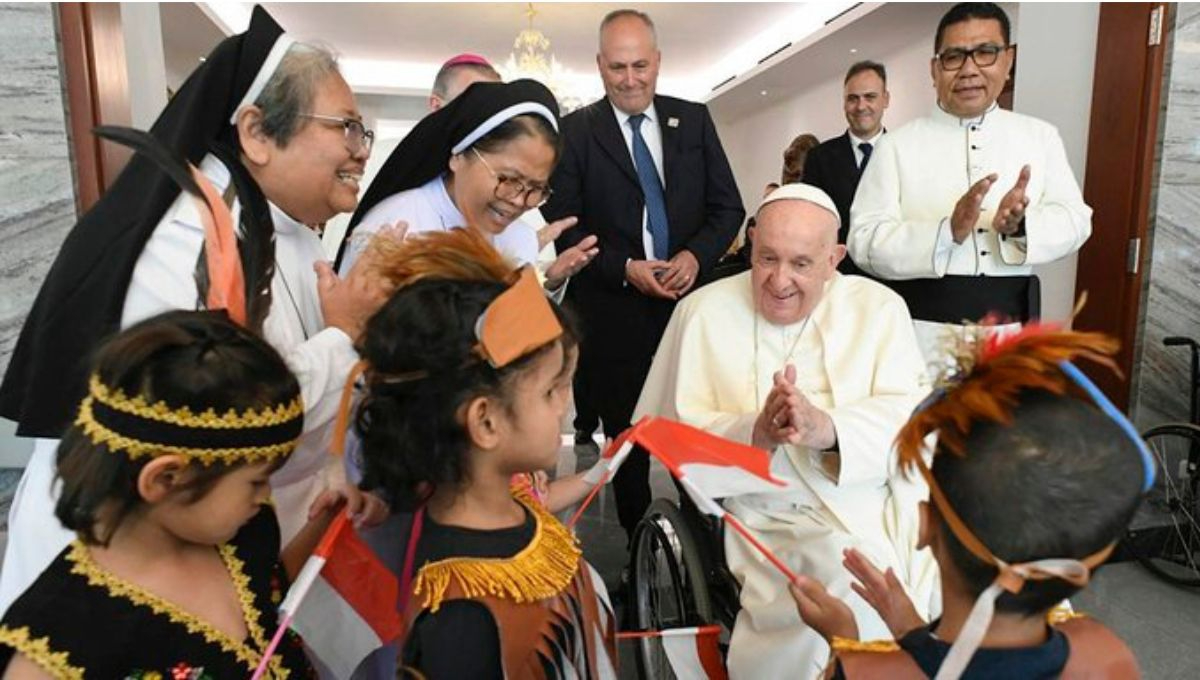
[{"label": "brown vest on shoulders of the child seen from behind at right", "polygon": [[[1067,636],[1067,666],[1062,680],[1129,680],[1141,678],[1133,651],[1112,631],[1086,616],[1055,627]],[[846,680],[928,680],[917,662],[904,650],[839,651]]]}]

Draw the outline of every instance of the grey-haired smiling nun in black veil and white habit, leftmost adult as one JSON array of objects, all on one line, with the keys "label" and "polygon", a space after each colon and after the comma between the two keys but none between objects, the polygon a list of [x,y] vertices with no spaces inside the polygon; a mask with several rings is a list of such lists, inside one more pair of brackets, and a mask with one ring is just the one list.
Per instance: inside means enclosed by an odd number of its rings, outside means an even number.
[{"label": "grey-haired smiling nun in black veil and white habit, leftmost adult", "polygon": [[[287,542],[310,500],[340,481],[325,443],[356,361],[353,337],[382,301],[370,287],[337,281],[306,227],[354,209],[370,134],[334,56],[293,41],[260,7],[184,83],[150,134],[218,192],[236,189],[247,325],[286,357],[306,407],[300,445],[271,477]],[[146,317],[203,307],[203,243],[192,197],[143,156],[67,235],[0,385],[0,415],[37,438],[10,511],[0,610],[73,537],[54,516],[54,457],[92,349]],[[314,266],[324,267],[320,293]]]}]

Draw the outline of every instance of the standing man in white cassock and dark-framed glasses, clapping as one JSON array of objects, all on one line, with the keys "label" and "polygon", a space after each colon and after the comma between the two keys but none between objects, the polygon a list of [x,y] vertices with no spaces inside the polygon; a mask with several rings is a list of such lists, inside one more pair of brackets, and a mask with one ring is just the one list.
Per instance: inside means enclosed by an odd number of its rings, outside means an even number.
[{"label": "standing man in white cassock and dark-framed glasses, clapping", "polygon": [[936,46],[937,106],[876,145],[846,241],[905,299],[935,372],[964,320],[1027,320],[1039,303],[1033,266],[1092,233],[1058,131],[996,103],[1013,67],[1004,11],[953,7]]}]

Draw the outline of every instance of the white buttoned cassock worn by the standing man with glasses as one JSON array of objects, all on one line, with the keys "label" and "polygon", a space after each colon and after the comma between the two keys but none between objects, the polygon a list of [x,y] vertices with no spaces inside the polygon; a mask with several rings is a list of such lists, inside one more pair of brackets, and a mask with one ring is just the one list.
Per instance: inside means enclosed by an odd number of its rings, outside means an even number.
[{"label": "white buttoned cassock worn by the standing man with glasses", "polygon": [[[1025,236],[1003,236],[991,221],[1024,166],[1031,167]],[[954,205],[992,173],[998,179],[983,199],[976,228],[954,243]],[[850,257],[886,279],[1025,277],[1033,265],[1074,253],[1092,234],[1092,210],[1058,131],[996,106],[976,119],[935,107],[880,138],[858,183],[850,222]],[[948,333],[961,333],[961,326],[924,321],[919,305],[910,300],[910,307],[926,361],[942,363]]]}]

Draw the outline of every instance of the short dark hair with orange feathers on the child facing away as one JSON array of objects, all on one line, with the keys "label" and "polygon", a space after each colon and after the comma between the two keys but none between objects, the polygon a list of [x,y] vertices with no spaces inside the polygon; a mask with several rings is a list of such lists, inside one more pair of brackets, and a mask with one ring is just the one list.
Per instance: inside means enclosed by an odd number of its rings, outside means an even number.
[{"label": "short dark hair with orange feathers on the child facing away", "polygon": [[[1094,559],[1133,517],[1146,471],[1139,445],[1062,363],[1086,357],[1111,367],[1116,342],[1028,326],[980,345],[961,357],[964,377],[901,428],[902,464],[922,469],[922,443],[936,433],[932,485],[984,552],[1009,565]],[[998,565],[968,549],[936,493],[934,501],[953,567],[978,596],[996,580]],[[1003,591],[996,610],[1042,614],[1076,590],[1057,578],[1027,579],[1019,592]]]}]

